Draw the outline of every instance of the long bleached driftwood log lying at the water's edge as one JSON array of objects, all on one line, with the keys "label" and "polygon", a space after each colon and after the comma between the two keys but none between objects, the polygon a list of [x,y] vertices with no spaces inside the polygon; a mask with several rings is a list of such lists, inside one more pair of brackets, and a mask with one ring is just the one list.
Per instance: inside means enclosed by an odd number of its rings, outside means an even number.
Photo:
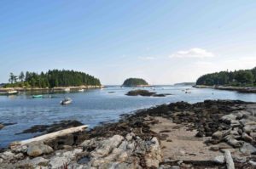
[{"label": "long bleached driftwood log lying at the water's edge", "polygon": [[65,135],[73,133],[73,132],[82,132],[87,127],[89,127],[89,126],[83,125],[83,126],[79,126],[79,127],[71,127],[71,128],[67,128],[67,129],[58,131],[58,132],[51,132],[49,134],[44,134],[43,136],[38,136],[36,138],[30,138],[30,139],[26,139],[26,140],[22,140],[22,141],[18,141],[18,142],[13,142],[13,143],[9,144],[9,148],[15,149],[18,146],[30,144],[32,142],[44,142],[48,139],[65,136]]}]

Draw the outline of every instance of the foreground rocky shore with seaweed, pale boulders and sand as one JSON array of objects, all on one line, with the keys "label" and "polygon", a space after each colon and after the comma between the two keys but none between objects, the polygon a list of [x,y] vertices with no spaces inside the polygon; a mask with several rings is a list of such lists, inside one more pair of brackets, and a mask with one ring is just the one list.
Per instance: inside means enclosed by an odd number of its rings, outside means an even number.
[{"label": "foreground rocky shore with seaweed, pale boulders and sand", "polygon": [[255,168],[256,103],[162,104],[0,153],[0,168]]}]

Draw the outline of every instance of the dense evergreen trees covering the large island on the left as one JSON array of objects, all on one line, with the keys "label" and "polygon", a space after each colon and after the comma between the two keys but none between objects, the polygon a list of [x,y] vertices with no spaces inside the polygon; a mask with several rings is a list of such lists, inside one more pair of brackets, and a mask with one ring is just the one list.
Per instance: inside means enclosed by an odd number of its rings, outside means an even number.
[{"label": "dense evergreen trees covering the large island on the left", "polygon": [[19,76],[9,75],[9,83],[5,87],[69,87],[91,85],[100,86],[101,82],[94,76],[74,70],[48,70],[46,73],[23,71]]}]

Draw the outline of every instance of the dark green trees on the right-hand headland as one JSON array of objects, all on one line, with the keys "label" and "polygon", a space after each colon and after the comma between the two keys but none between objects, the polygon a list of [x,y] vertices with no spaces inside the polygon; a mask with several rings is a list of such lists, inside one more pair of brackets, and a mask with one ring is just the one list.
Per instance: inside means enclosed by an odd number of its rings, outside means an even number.
[{"label": "dark green trees on the right-hand headland", "polygon": [[196,85],[256,86],[256,67],[251,70],[220,71],[199,77]]}]

